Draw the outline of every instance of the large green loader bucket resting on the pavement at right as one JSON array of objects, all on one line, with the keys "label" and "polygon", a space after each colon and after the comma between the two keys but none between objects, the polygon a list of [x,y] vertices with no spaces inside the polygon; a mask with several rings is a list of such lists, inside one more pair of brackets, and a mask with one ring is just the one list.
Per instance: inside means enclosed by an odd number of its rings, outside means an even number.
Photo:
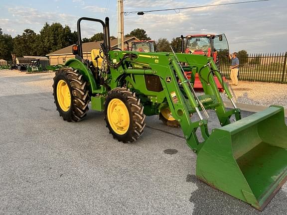
[{"label": "large green loader bucket resting on the pavement at right", "polygon": [[198,152],[196,176],[263,210],[287,180],[284,108],[270,107],[214,129]]}]

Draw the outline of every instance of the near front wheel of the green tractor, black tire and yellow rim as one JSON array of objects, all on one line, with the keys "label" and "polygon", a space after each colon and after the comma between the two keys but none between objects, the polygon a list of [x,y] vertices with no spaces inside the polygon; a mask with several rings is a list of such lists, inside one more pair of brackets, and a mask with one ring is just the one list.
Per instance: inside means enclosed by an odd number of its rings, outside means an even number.
[{"label": "near front wheel of the green tractor, black tire and yellow rim", "polygon": [[105,101],[105,120],[115,139],[134,142],[143,134],[145,115],[136,93],[127,88],[111,90]]}]

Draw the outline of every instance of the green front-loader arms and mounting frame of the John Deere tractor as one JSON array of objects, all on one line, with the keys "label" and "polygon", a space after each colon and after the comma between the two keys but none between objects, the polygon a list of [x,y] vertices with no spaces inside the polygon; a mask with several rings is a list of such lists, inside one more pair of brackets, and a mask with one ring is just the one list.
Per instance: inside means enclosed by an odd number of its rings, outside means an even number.
[{"label": "green front-loader arms and mounting frame of the John Deere tractor", "polygon": [[[126,54],[136,55],[137,58],[127,58],[121,67],[118,69],[111,69],[113,80],[120,80],[120,78],[125,75],[128,77],[127,80],[129,81],[129,84],[132,85],[132,88],[136,89],[139,97],[141,97],[141,95],[143,95],[143,97],[156,97],[157,100],[150,100],[150,102],[155,104],[160,104],[161,101],[165,99],[171,110],[172,116],[178,120],[181,125],[187,144],[194,152],[198,153],[204,144],[204,142],[199,142],[195,134],[196,130],[200,128],[202,137],[205,140],[209,136],[207,119],[202,117],[201,110],[204,108],[214,109],[222,126],[230,123],[229,118],[232,114],[235,114],[236,118],[240,119],[239,109],[234,108],[227,111],[224,107],[212,74],[217,73],[217,68],[212,58],[200,55],[174,55],[172,53],[163,52],[137,53],[110,51],[111,61],[119,62]],[[200,106],[200,99],[198,100],[194,92],[192,92],[192,86],[184,76],[184,72],[179,66],[178,61],[187,64],[192,68],[194,73],[199,73],[205,92],[205,96],[201,97],[203,107]],[[134,66],[131,67],[131,65]],[[145,65],[145,69],[135,65]],[[134,80],[130,75],[133,75]],[[158,93],[148,92],[141,80],[144,75],[158,76],[163,90]],[[222,84],[225,86],[225,83],[222,82]],[[117,86],[112,86],[111,88],[113,87]],[[225,89],[228,98],[232,99],[226,86]],[[200,120],[191,121],[190,113],[194,112],[197,112],[197,114],[200,115]]]}]

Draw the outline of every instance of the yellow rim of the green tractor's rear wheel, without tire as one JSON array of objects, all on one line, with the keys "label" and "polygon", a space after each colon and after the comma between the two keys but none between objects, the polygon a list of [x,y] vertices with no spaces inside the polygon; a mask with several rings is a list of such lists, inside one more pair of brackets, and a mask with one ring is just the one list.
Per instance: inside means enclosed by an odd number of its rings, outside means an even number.
[{"label": "yellow rim of the green tractor's rear wheel, without tire", "polygon": [[71,94],[67,83],[60,80],[57,84],[57,100],[63,111],[68,111],[71,105]]}]

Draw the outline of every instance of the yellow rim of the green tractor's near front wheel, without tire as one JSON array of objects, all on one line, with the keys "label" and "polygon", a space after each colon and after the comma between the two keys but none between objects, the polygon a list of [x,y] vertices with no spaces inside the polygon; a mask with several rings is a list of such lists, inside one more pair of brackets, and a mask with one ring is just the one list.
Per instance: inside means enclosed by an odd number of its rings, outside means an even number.
[{"label": "yellow rim of the green tractor's near front wheel, without tire", "polygon": [[127,133],[130,126],[130,114],[125,103],[119,99],[112,99],[107,113],[112,129],[120,135]]}]

